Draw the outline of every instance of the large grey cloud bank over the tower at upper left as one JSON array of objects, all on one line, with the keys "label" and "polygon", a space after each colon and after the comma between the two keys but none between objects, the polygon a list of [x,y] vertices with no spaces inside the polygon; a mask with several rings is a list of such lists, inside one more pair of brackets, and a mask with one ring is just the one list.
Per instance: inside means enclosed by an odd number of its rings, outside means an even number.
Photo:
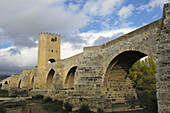
[{"label": "large grey cloud bank over the tower at upper left", "polygon": [[[36,47],[39,32],[72,32],[86,25],[90,18],[75,13],[64,0],[0,1],[0,34],[17,47]],[[32,37],[32,40],[30,40]],[[64,41],[64,40],[63,40]]]}]

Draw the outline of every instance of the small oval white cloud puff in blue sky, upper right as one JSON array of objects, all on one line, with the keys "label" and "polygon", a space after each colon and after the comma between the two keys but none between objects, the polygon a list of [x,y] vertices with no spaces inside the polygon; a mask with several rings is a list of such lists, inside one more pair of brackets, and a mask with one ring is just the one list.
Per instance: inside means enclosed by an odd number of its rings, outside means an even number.
[{"label": "small oval white cloud puff in blue sky, upper right", "polygon": [[132,14],[132,11],[134,10],[134,6],[132,4],[129,4],[128,6],[123,6],[119,12],[118,15],[120,18],[127,18]]}]

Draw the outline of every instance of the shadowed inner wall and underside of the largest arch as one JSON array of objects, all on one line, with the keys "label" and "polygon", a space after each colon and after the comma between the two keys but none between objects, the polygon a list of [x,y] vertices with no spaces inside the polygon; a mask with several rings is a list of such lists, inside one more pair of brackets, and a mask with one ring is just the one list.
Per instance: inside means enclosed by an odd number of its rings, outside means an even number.
[{"label": "shadowed inner wall and underside of the largest arch", "polygon": [[104,76],[103,92],[105,99],[111,103],[137,102],[135,90],[127,74],[130,67],[145,56],[147,55],[140,51],[125,51],[112,59]]}]

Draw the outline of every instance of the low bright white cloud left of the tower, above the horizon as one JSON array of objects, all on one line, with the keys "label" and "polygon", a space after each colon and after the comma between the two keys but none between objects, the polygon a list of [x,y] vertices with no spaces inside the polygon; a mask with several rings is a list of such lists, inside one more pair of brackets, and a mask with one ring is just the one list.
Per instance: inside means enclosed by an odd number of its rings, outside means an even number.
[{"label": "low bright white cloud left of the tower, above the horizon", "polygon": [[0,49],[0,75],[20,73],[23,69],[31,69],[36,66],[38,49],[26,48],[22,50],[16,47]]}]

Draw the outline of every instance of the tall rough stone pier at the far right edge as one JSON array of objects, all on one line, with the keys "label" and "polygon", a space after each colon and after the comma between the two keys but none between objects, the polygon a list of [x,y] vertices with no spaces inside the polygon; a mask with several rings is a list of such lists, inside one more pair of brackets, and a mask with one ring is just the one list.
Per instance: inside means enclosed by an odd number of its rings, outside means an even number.
[{"label": "tall rough stone pier at the far right edge", "polygon": [[158,112],[170,113],[170,3],[164,5],[156,59]]}]

